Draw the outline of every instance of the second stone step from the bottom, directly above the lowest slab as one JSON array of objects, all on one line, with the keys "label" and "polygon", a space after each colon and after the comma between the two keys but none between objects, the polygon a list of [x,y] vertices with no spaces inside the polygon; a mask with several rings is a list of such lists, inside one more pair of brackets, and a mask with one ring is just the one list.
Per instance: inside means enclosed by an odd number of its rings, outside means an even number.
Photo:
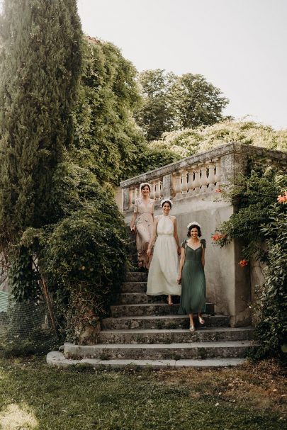
[{"label": "second stone step from the bottom, directly above the lowest slab", "polygon": [[98,360],[186,360],[191,358],[244,358],[253,341],[193,342],[182,344],[64,344],[66,358]]}]

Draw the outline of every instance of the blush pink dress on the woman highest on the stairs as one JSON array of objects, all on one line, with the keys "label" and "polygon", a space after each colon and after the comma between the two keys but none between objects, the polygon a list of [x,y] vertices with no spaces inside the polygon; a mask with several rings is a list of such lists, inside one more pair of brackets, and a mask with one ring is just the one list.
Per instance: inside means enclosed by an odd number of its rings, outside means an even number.
[{"label": "blush pink dress on the woman highest on the stairs", "polygon": [[154,222],[154,200],[149,198],[147,202],[142,198],[135,200],[134,213],[137,213],[135,226],[137,228],[136,244],[137,259],[142,267],[149,268],[150,261],[147,256],[147,247],[152,238],[152,227]]}]

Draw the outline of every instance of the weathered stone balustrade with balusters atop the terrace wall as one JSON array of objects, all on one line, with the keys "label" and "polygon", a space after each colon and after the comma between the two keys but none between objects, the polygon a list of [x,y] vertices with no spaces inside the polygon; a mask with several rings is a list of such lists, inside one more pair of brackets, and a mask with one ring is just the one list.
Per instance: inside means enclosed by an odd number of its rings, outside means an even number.
[{"label": "weathered stone balustrade with balusters atop the terrace wall", "polygon": [[242,171],[248,156],[261,157],[266,164],[287,164],[286,153],[232,142],[121,182],[123,212],[133,208],[140,197],[142,182],[150,183],[150,197],[156,202],[163,197],[176,200],[198,196],[228,183]]}]

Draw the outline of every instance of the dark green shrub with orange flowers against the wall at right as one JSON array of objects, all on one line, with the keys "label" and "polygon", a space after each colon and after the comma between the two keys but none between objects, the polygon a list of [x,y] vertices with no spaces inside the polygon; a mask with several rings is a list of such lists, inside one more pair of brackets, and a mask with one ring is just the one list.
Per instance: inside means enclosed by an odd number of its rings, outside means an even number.
[{"label": "dark green shrub with orange flowers against the wall at right", "polygon": [[286,348],[287,200],[278,198],[286,190],[287,179],[282,171],[264,166],[262,160],[260,164],[249,160],[247,173],[237,177],[234,186],[223,193],[232,200],[236,211],[213,235],[221,247],[232,239],[241,239],[242,267],[249,264],[252,256],[266,265],[265,283],[257,287],[258,298],[253,304],[259,341],[256,358],[284,358]]}]

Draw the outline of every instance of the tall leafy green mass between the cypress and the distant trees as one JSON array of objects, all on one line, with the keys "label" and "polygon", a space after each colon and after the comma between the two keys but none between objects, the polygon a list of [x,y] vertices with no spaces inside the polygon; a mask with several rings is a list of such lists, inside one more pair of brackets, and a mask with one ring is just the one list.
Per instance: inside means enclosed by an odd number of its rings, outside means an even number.
[{"label": "tall leafy green mass between the cypress and the distant trees", "polygon": [[111,43],[85,39],[83,49],[71,157],[99,183],[118,184],[138,173],[146,146],[133,119],[140,103],[135,67]]}]

